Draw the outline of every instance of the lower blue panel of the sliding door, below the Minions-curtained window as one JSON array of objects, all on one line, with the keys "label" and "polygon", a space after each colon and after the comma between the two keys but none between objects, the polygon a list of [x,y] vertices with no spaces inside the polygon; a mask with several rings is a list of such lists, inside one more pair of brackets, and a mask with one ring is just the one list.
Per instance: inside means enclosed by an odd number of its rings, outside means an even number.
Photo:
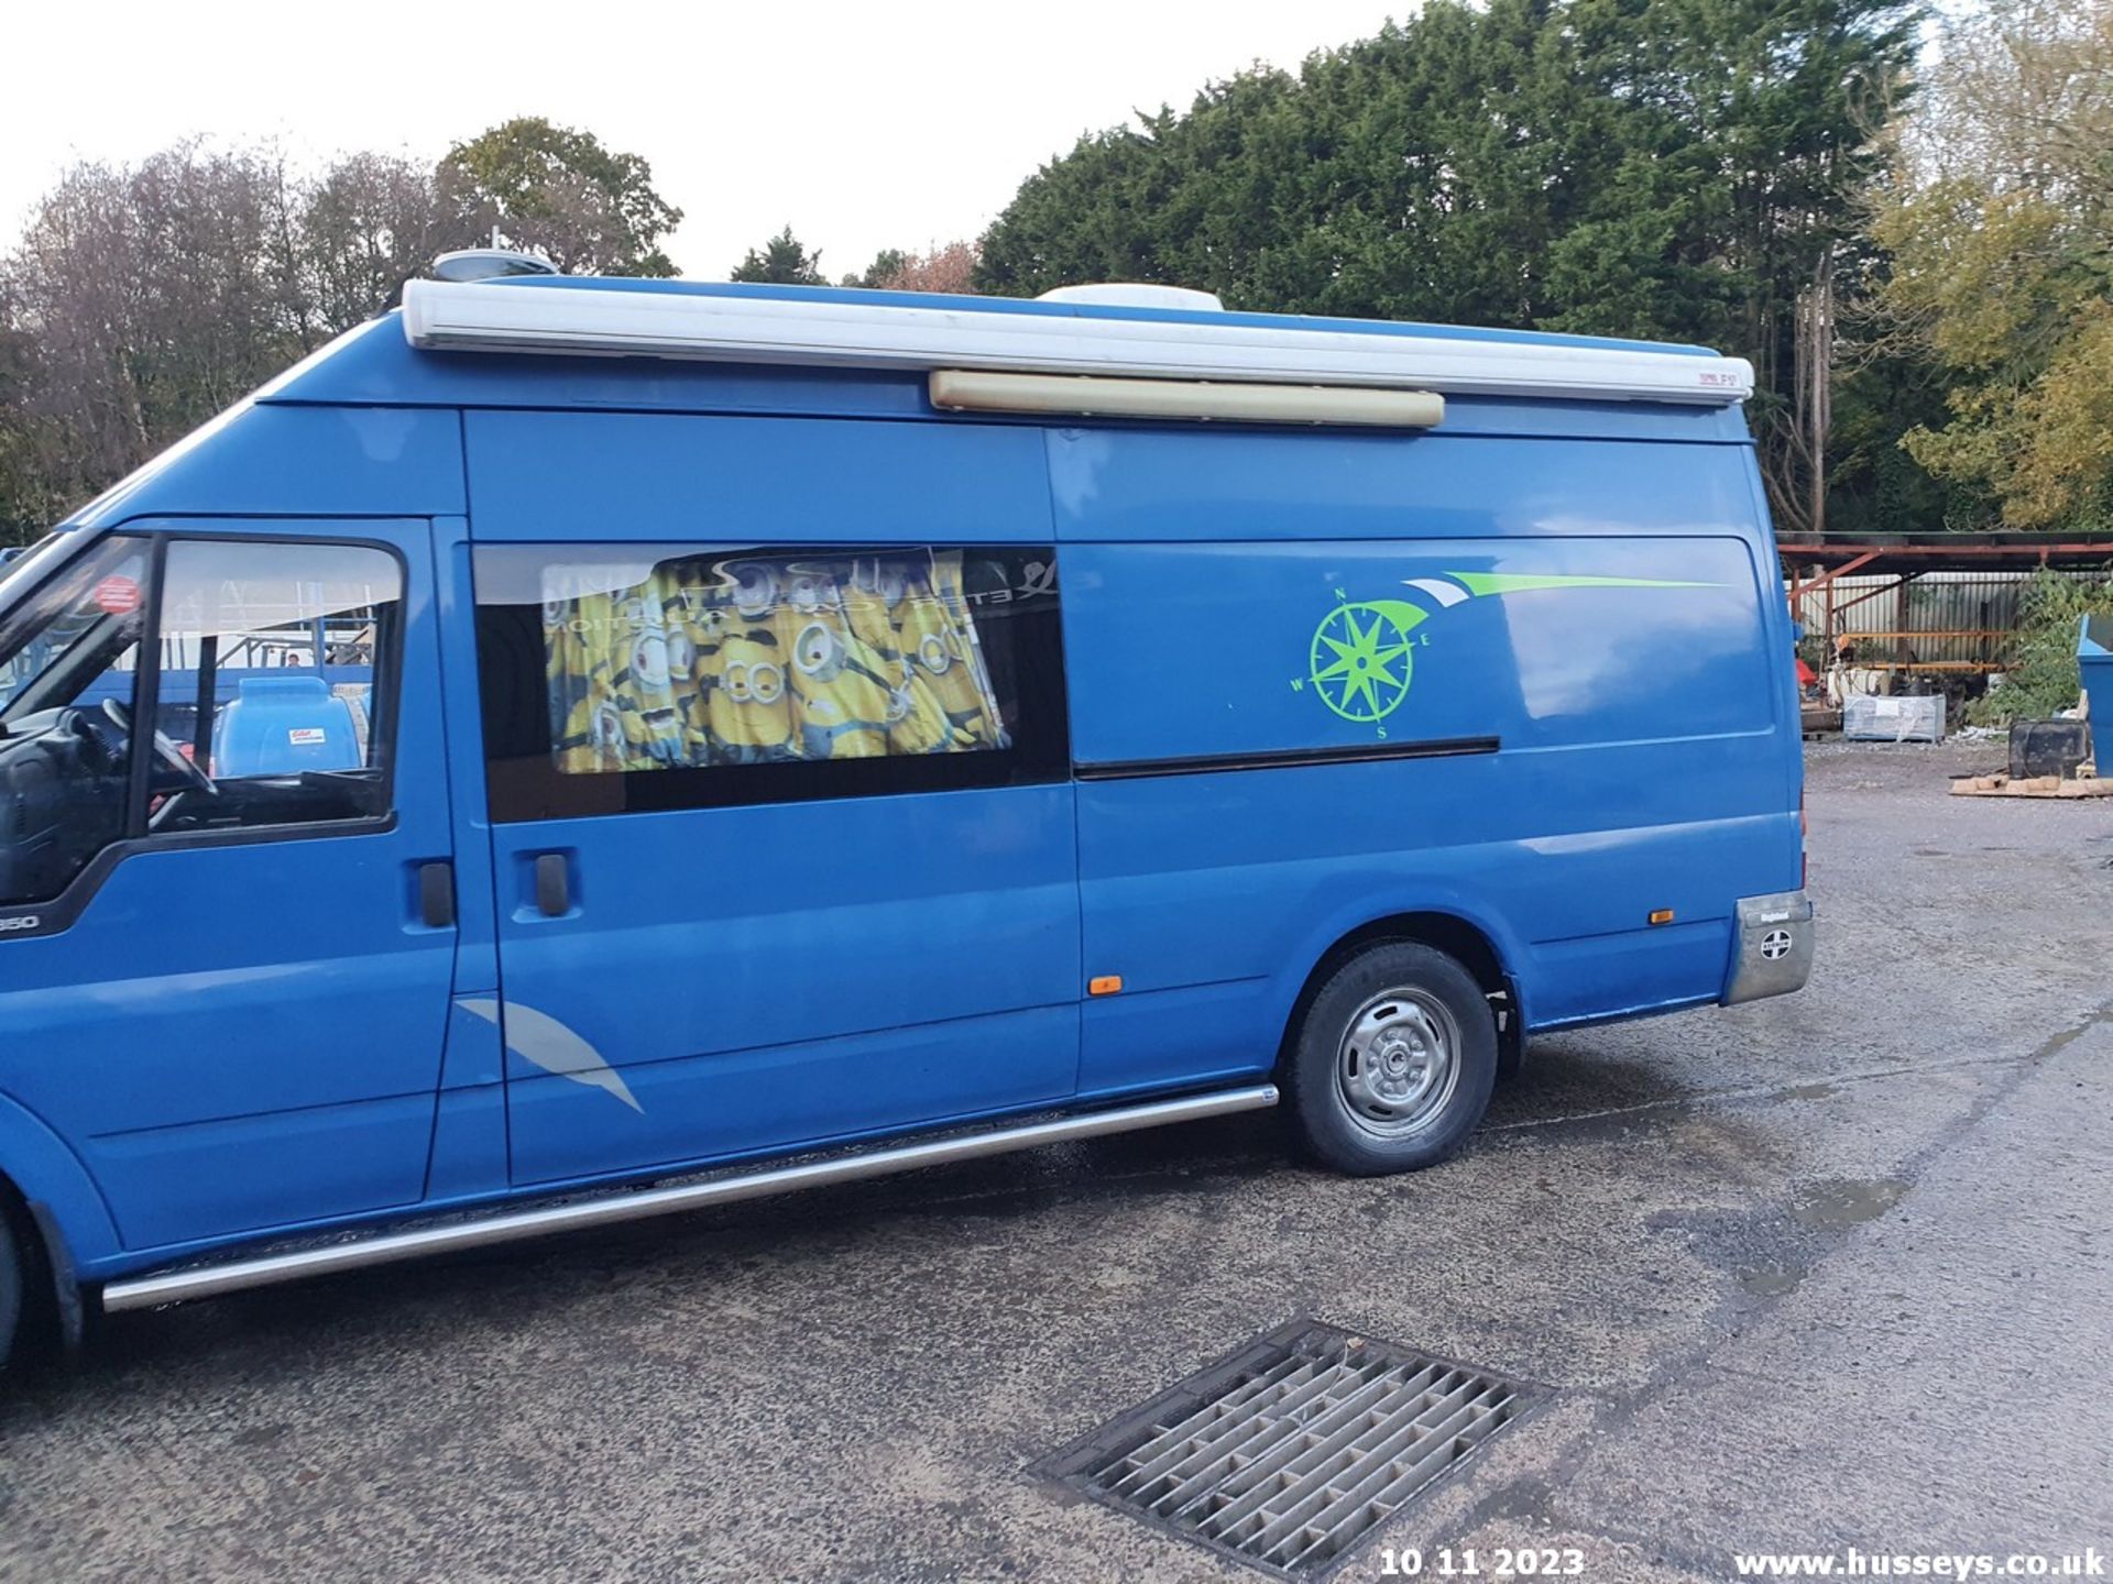
[{"label": "lower blue panel of the sliding door, below the Minions-curtained window", "polygon": [[[516,1058],[520,1183],[1071,1094],[1069,788],[562,819],[499,841],[509,1010],[560,1018],[630,1094]],[[571,917],[535,906],[541,853],[577,868]]]}]

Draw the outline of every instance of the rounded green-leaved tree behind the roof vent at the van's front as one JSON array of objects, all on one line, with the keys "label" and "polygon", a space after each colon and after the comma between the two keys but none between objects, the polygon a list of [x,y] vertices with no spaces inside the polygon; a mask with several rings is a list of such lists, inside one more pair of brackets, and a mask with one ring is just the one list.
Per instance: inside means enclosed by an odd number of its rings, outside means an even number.
[{"label": "rounded green-leaved tree behind the roof vent at the van's front", "polygon": [[486,237],[497,226],[568,275],[676,272],[659,243],[682,211],[653,190],[642,156],[590,131],[520,116],[450,148],[437,182],[459,224]]}]

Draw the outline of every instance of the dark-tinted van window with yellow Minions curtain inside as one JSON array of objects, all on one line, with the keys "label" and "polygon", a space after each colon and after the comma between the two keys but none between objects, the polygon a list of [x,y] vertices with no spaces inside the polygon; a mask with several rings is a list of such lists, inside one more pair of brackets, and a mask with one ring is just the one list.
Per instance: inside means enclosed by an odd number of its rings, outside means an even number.
[{"label": "dark-tinted van window with yellow Minions curtain inside", "polygon": [[1048,547],[482,547],[492,815],[1069,773]]}]

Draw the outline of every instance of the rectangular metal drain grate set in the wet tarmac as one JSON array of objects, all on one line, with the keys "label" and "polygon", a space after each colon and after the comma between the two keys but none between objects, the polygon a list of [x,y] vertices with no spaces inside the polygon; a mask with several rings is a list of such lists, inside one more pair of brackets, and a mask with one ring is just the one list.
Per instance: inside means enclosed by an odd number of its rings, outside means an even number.
[{"label": "rectangular metal drain grate set in the wet tarmac", "polygon": [[1312,1576],[1517,1419],[1534,1388],[1297,1320],[1040,1464],[1283,1576]]}]

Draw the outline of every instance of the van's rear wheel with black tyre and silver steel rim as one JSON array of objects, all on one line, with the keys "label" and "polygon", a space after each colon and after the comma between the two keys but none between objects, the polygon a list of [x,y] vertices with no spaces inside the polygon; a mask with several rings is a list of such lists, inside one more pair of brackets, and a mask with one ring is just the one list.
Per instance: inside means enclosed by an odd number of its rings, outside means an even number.
[{"label": "van's rear wheel with black tyre and silver steel rim", "polygon": [[1291,1048],[1299,1138],[1354,1176],[1452,1155],[1496,1083],[1496,1020],[1481,984],[1431,946],[1388,940],[1346,961],[1306,1007]]}]

